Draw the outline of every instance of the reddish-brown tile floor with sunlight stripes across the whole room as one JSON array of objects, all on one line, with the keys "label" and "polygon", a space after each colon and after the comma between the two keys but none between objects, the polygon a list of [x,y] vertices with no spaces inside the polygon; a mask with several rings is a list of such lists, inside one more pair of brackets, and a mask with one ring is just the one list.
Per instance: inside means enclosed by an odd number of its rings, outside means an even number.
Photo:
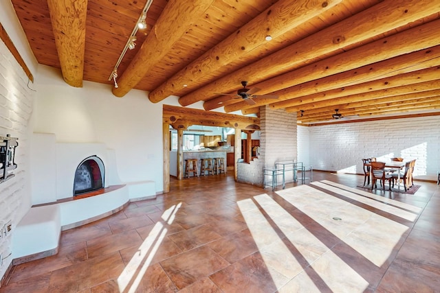
[{"label": "reddish-brown tile floor with sunlight stripes across the whole room", "polygon": [[439,292],[440,187],[362,183],[172,179],[169,194],[63,231],[58,255],[15,266],[0,292]]}]

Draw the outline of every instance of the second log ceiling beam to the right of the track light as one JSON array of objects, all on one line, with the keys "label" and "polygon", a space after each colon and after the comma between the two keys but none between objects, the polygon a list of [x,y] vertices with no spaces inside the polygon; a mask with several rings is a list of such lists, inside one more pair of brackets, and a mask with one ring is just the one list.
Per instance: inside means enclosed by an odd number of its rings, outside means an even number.
[{"label": "second log ceiling beam to the right of the track light", "polygon": [[[309,21],[325,10],[333,8],[341,0],[279,0],[252,21],[232,33],[221,43],[206,51],[190,65],[166,80],[149,93],[151,102],[157,103],[169,95],[181,95],[191,90],[191,82],[209,75],[220,67],[241,58],[250,51],[264,45],[267,34],[277,38],[298,25]],[[188,87],[184,87],[188,84]]]}]

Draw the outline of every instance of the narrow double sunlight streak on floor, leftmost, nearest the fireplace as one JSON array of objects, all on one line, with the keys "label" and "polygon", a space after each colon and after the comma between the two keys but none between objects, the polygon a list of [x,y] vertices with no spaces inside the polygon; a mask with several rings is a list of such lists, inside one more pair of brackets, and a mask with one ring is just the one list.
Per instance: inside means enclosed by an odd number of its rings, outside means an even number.
[{"label": "narrow double sunlight streak on floor, leftmost, nearest the fireplace", "polygon": [[[162,220],[164,220],[165,224],[173,223],[175,215],[180,207],[181,203],[173,205],[164,211],[162,214]],[[167,231],[168,229],[164,226],[164,223],[157,222],[155,224],[148,234],[148,237],[144,239],[144,242],[139,246],[135,255],[133,255],[118,277],[120,292],[136,292],[148,266],[150,266],[151,261],[157,252],[157,249],[160,244],[162,244]]]}]

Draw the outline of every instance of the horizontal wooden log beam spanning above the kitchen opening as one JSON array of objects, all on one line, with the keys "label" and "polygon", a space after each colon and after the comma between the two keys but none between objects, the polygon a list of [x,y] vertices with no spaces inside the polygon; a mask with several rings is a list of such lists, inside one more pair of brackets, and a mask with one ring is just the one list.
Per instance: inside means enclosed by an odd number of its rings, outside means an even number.
[{"label": "horizontal wooden log beam spanning above the kitchen opening", "polygon": [[183,127],[177,127],[179,129],[186,129],[191,125],[241,128],[243,130],[259,129],[260,127],[260,119],[258,117],[206,112],[205,110],[168,105],[163,106],[162,119],[164,123],[171,125],[179,121],[183,125]]}]

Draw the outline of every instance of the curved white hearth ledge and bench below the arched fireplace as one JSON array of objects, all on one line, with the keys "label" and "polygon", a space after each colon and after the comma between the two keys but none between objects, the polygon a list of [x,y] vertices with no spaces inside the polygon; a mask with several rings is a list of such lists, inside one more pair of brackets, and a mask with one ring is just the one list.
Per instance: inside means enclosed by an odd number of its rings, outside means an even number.
[{"label": "curved white hearth ledge and bench below the arched fireplace", "polygon": [[17,265],[56,255],[61,231],[117,213],[132,201],[156,198],[155,194],[142,193],[149,185],[153,182],[129,183],[89,198],[32,207],[12,235],[12,263]]}]

